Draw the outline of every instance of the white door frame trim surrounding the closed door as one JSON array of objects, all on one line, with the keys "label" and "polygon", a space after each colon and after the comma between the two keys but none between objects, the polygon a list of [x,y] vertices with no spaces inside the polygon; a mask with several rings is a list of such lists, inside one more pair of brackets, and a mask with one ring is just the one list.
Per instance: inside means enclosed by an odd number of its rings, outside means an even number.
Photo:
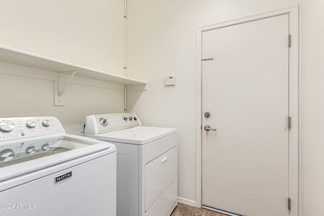
[{"label": "white door frame trim surrounding the closed door", "polygon": [[[299,37],[298,37],[298,5],[261,13],[257,15],[247,16],[243,18],[233,19],[230,21],[220,22],[216,24],[204,25],[196,28],[196,207],[201,207],[202,197],[202,168],[201,168],[201,48],[202,48],[202,33],[204,31],[217,28],[237,25],[241,23],[251,22],[268,17],[289,14],[289,32],[291,35],[291,47],[289,49],[289,113],[291,116],[291,129],[289,132],[289,197],[291,198],[291,210],[289,215],[297,216],[299,211]],[[287,35],[288,46],[288,35]],[[288,207],[288,200],[287,200]]]}]

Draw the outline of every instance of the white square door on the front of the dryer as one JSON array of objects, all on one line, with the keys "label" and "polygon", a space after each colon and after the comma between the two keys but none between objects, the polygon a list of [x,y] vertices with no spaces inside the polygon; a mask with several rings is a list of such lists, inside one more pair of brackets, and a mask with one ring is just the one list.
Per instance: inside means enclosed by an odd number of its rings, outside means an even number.
[{"label": "white square door on the front of the dryer", "polygon": [[177,179],[177,148],[145,165],[145,212]]}]

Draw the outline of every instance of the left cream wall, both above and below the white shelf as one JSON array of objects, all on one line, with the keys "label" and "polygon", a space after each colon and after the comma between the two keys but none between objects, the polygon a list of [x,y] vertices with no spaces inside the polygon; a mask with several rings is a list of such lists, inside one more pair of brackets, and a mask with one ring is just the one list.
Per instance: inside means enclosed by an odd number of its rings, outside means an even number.
[{"label": "left cream wall, both above and below the white shelf", "polygon": [[[124,75],[124,1],[0,0],[0,5],[0,45]],[[64,106],[54,106],[55,77],[1,63],[0,117],[56,116],[67,133],[79,134],[86,115],[124,111],[124,92],[109,84],[71,83]]]}]

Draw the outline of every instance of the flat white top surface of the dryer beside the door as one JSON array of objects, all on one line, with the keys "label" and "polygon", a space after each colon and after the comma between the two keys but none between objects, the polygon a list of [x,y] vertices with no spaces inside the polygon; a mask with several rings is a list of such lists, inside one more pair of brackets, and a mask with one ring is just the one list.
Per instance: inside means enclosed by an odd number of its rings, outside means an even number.
[{"label": "flat white top surface of the dryer beside the door", "polygon": [[137,126],[86,137],[117,143],[144,145],[177,132],[176,128]]}]

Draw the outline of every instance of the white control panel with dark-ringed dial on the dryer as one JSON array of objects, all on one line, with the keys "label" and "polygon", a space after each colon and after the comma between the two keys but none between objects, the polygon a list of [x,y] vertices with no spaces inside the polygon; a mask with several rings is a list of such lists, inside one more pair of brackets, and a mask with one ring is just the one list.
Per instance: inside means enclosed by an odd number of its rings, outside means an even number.
[{"label": "white control panel with dark-ringed dial on the dryer", "polygon": [[85,134],[102,134],[140,126],[135,113],[106,113],[86,117]]}]

